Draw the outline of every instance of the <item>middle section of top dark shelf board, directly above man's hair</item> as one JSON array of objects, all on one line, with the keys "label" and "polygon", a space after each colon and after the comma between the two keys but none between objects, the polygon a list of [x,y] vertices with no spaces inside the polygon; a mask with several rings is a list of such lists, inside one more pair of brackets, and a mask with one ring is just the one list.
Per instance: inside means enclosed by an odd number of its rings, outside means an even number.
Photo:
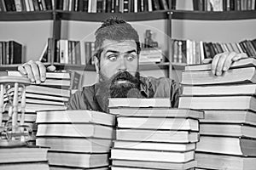
[{"label": "middle section of top dark shelf board, directly above man's hair", "polygon": [[85,13],[85,12],[71,12],[57,10],[61,20],[80,20],[100,22],[106,20],[111,16],[118,16],[127,21],[141,21],[141,20],[161,20],[168,19],[168,10],[160,10],[154,12],[140,12],[140,13]]}]

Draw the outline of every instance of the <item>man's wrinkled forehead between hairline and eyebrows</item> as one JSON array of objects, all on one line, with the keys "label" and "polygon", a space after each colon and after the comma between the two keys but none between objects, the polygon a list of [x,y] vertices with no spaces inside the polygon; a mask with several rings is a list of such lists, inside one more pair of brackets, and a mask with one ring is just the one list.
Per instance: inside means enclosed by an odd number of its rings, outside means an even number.
[{"label": "man's wrinkled forehead between hairline and eyebrows", "polygon": [[113,40],[104,40],[102,43],[103,51],[116,50],[116,51],[129,51],[131,49],[137,50],[137,44],[134,40],[122,40],[122,41],[113,41]]}]

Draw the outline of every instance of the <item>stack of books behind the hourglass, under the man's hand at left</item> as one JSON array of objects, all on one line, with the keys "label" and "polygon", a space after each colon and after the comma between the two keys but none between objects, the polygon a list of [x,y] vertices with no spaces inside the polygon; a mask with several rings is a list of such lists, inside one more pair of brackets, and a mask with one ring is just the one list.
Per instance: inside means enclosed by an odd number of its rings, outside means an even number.
[{"label": "stack of books behind the hourglass, under the man's hand at left", "polygon": [[[21,77],[19,71],[4,71],[1,73],[6,76]],[[47,72],[46,81],[41,84],[32,83],[26,86],[26,108],[25,108],[25,125],[32,130],[30,144],[35,145],[35,134],[37,133],[36,111],[47,110],[66,110],[65,102],[70,97],[71,78],[69,72]],[[8,90],[5,95],[6,112],[3,114],[3,121],[9,120],[9,99],[12,99],[14,89]],[[20,121],[20,102],[18,121]]]}]

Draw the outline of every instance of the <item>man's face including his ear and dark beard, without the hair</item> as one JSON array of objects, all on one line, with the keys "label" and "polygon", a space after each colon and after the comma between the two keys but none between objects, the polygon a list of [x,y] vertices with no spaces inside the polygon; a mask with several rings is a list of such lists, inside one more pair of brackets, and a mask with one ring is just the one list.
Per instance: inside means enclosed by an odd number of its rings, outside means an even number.
[{"label": "man's face including his ear and dark beard, without the hair", "polygon": [[[98,65],[100,82],[109,84],[111,97],[137,97],[139,93],[139,73],[137,44],[133,40],[105,40]],[[108,87],[108,85],[106,86]]]}]

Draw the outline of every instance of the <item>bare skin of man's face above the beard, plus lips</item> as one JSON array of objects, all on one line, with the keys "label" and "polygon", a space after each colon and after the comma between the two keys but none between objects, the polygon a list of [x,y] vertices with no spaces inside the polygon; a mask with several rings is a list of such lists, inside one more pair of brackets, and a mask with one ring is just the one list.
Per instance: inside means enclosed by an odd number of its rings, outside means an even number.
[{"label": "bare skin of man's face above the beard, plus lips", "polygon": [[[100,81],[107,81],[121,71],[128,71],[133,77],[138,70],[137,44],[134,40],[116,42],[104,40],[99,65]],[[119,81],[117,83],[125,83]]]}]

